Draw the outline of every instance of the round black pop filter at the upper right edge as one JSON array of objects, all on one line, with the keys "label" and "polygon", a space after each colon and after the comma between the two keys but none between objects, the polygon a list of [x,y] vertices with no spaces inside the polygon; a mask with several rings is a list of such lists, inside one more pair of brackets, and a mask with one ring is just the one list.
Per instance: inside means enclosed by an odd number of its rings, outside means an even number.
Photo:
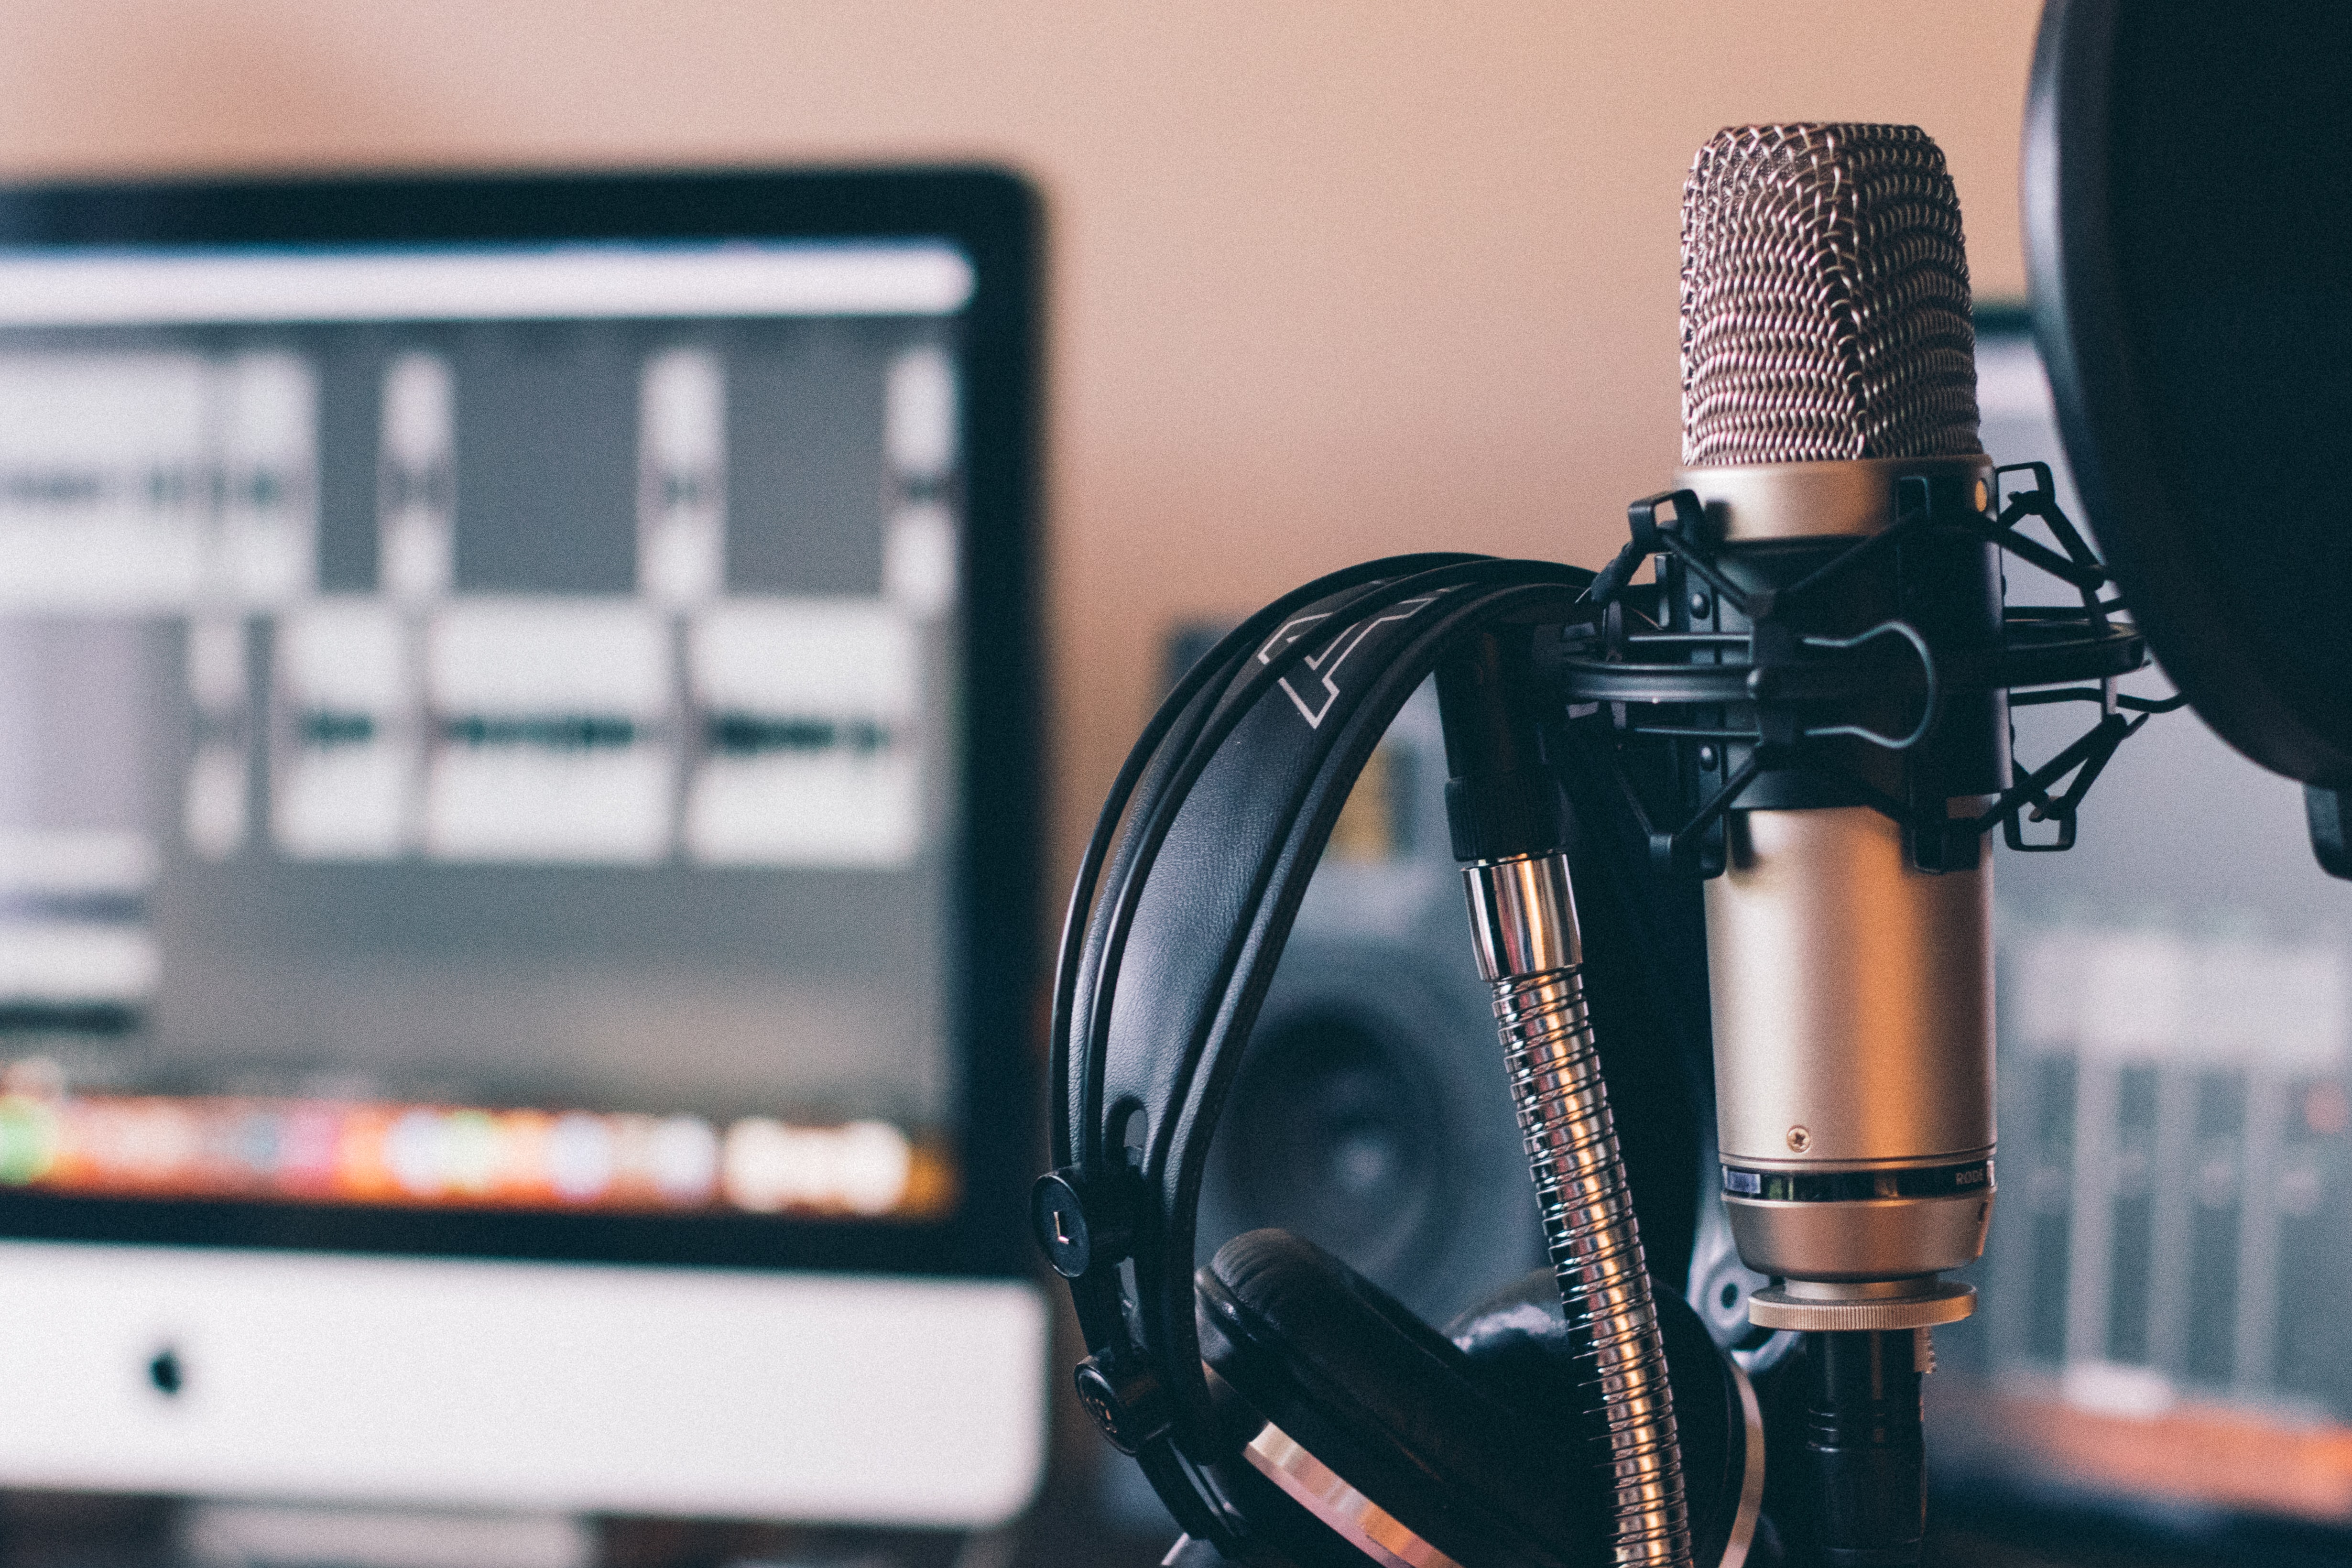
[{"label": "round black pop filter at the upper right edge", "polygon": [[2352,7],[2051,0],[2025,247],[2133,618],[2352,875]]}]

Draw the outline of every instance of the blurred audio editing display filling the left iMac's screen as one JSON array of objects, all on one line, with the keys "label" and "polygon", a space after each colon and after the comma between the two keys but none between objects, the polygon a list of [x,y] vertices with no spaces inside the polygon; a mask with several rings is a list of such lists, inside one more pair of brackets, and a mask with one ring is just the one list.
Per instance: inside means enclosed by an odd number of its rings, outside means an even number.
[{"label": "blurred audio editing display filling the left iMac's screen", "polygon": [[953,1206],[957,252],[0,284],[0,1182]]}]

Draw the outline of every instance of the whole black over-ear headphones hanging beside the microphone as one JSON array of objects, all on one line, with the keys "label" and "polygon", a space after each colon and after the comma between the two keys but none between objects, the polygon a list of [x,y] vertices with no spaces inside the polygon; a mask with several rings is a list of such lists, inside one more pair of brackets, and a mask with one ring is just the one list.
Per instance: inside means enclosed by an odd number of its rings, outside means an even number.
[{"label": "whole black over-ear headphones hanging beside the microphone", "polygon": [[[1552,562],[1406,555],[1284,595],[1169,693],[1087,844],[1054,980],[1056,1168],[1030,1218],[1087,1340],[1080,1399],[1185,1533],[1171,1563],[1611,1556],[1592,1366],[1548,1269],[1437,1331],[1287,1232],[1235,1237],[1197,1279],[1192,1267],[1209,1135],[1367,757],[1439,663],[1604,614],[1590,583]],[[1597,938],[1592,1013],[1604,1041],[1630,1041],[1604,1053],[1604,1074],[1611,1093],[1623,1079],[1661,1107],[1651,1117],[1644,1100],[1625,1124],[1637,1211],[1668,1251],[1686,1251],[1696,1128],[1712,1114],[1705,1034],[1691,1065],[1689,978],[1651,954],[1689,929],[1663,933],[1677,910],[1625,872],[1639,858],[1611,837],[1623,804],[1588,788],[1602,769],[1541,771],[1545,813],[1566,790],[1578,905]],[[1456,818],[1458,856],[1482,853],[1470,839]],[[1682,919],[1696,926],[1696,910]],[[1691,1563],[1740,1568],[1762,1500],[1757,1401],[1682,1298],[1663,1284],[1653,1298]]]}]

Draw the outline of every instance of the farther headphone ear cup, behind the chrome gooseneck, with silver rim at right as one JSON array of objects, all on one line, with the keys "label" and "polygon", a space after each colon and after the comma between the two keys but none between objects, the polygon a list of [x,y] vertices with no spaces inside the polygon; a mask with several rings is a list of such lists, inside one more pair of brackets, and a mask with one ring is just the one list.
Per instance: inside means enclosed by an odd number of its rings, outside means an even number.
[{"label": "farther headphone ear cup, behind the chrome gooseneck, with silver rim at right", "polygon": [[[1677,1291],[1651,1279],[1658,1333],[1665,1340],[1665,1375],[1675,1389],[1675,1434],[1682,1443],[1682,1495],[1691,1516],[1691,1563],[1748,1568],[1778,1563],[1776,1535],[1759,1526],[1764,1495],[1764,1434],[1745,1373],[1715,1342],[1705,1321]],[[1597,1422],[1583,1413],[1583,1389],[1559,1286],[1550,1269],[1536,1269],[1498,1291],[1446,1326],[1472,1378],[1510,1399],[1522,1415],[1550,1429],[1555,1443],[1585,1453],[1602,1441]],[[1757,1474],[1750,1483],[1750,1469]],[[1606,1519],[1609,1500],[1599,1507]],[[1736,1556],[1726,1552],[1736,1547]]]}]

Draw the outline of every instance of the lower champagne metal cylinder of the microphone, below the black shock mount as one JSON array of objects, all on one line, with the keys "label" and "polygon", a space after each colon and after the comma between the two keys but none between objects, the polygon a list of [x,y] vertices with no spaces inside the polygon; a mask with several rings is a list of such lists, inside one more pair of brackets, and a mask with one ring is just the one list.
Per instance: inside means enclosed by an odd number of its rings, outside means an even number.
[{"label": "lower champagne metal cylinder of the microphone, below the black shock mount", "polygon": [[[1867,806],[1750,811],[1729,837],[1708,964],[1740,1258],[1797,1284],[1973,1262],[1992,1218],[1990,867],[1922,872]],[[1856,1178],[1853,1197],[1766,1197],[1806,1175]]]}]

